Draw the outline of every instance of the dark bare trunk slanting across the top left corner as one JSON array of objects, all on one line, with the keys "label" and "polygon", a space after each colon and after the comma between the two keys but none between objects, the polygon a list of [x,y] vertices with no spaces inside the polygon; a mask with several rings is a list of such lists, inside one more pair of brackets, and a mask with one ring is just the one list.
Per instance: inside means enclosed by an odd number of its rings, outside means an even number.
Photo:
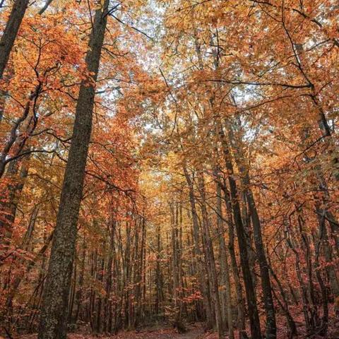
[{"label": "dark bare trunk slanting across the top left corner", "polygon": [[29,0],[16,0],[8,18],[4,34],[0,40],[0,79],[4,75],[6,65],[13,48]]}]

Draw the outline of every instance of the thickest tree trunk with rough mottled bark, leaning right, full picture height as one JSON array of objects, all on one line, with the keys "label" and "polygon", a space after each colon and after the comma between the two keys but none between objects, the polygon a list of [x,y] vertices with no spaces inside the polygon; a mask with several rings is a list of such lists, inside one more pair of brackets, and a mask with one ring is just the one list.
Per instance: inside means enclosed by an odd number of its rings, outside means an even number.
[{"label": "thickest tree trunk with rough mottled bark, leaning right, full picture height", "polygon": [[[109,0],[95,12],[89,50],[86,55],[88,71],[96,81],[102,44],[105,37]],[[61,192],[57,225],[49,259],[47,280],[42,299],[39,339],[66,339],[66,316],[76,233],[81,203],[88,145],[92,131],[95,87],[88,81],[81,83],[73,125],[73,137]]]}]

